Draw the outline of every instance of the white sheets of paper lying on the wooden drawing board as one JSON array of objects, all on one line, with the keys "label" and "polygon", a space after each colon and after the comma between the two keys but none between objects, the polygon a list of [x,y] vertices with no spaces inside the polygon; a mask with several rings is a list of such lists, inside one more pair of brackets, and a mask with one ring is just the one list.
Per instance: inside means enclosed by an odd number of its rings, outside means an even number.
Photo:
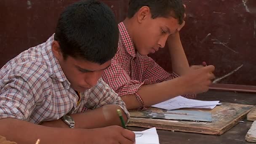
[{"label": "white sheets of paper lying on the wooden drawing board", "polygon": [[159,104],[155,104],[152,107],[161,109],[181,109],[181,108],[192,108],[192,109],[213,109],[216,105],[219,105],[219,101],[199,101],[194,99],[187,99],[182,96],[176,96],[173,99],[163,101]]}]

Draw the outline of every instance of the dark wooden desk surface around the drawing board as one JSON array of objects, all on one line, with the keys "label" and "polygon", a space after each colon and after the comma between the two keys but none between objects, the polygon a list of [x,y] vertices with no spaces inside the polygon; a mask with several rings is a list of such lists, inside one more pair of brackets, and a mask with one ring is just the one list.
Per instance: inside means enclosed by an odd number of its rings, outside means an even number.
[{"label": "dark wooden desk surface around the drawing board", "polygon": [[[256,93],[237,93],[228,91],[208,91],[197,96],[200,100],[221,100],[238,104],[256,105]],[[206,135],[199,133],[184,133],[178,131],[157,130],[160,144],[252,144],[245,141],[245,135],[252,122],[243,120],[226,133],[216,135]],[[146,128],[129,127],[132,131],[143,131]]]}]

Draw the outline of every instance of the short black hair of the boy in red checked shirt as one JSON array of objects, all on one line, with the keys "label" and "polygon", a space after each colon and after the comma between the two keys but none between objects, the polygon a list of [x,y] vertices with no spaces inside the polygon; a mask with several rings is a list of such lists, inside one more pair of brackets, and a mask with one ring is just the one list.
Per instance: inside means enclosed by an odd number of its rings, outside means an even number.
[{"label": "short black hair of the boy in red checked shirt", "polygon": [[149,7],[152,19],[172,16],[178,19],[179,24],[183,22],[185,8],[181,0],[130,0],[128,18],[132,18],[143,6]]}]

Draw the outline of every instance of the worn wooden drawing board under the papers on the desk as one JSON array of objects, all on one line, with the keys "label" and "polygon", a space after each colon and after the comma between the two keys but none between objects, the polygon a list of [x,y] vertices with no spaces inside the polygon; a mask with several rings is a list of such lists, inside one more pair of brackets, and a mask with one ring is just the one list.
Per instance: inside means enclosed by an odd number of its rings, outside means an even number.
[{"label": "worn wooden drawing board under the papers on the desk", "polygon": [[131,117],[128,126],[221,135],[243,120],[252,108],[252,105],[222,103],[211,110],[212,123]]}]

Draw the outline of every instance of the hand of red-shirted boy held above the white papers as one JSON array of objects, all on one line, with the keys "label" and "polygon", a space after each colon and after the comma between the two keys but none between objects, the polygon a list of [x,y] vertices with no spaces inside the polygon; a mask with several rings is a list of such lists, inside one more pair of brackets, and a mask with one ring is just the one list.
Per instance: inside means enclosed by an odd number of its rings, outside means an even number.
[{"label": "hand of red-shirted boy held above the white papers", "polygon": [[212,84],[215,76],[213,75],[215,67],[209,65],[203,67],[202,65],[192,66],[189,71],[181,76],[184,80],[184,89],[187,91],[186,94],[203,93],[208,91],[209,85]]}]

